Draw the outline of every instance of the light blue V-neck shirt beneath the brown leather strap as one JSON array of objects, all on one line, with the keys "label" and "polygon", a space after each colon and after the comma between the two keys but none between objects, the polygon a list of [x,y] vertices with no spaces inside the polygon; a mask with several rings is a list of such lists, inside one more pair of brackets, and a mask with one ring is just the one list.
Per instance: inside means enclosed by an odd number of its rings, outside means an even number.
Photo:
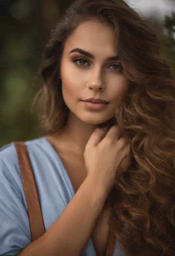
[{"label": "light blue V-neck shirt beneath the brown leather strap", "polygon": [[[58,154],[45,137],[25,142],[38,190],[45,230],[75,195]],[[27,204],[14,144],[0,149],[0,256],[14,256],[31,243]],[[82,256],[96,256],[90,239]],[[121,256],[118,243],[113,256]]]}]

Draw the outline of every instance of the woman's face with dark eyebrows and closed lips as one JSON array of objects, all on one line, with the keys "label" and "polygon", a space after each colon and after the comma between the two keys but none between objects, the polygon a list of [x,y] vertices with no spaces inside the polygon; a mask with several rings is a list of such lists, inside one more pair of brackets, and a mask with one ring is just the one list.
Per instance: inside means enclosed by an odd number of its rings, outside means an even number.
[{"label": "woman's face with dark eyebrows and closed lips", "polygon": [[[128,88],[114,46],[110,25],[83,22],[65,43],[61,59],[62,94],[70,113],[88,124],[101,124],[115,115]],[[95,98],[107,103],[88,103]]]}]

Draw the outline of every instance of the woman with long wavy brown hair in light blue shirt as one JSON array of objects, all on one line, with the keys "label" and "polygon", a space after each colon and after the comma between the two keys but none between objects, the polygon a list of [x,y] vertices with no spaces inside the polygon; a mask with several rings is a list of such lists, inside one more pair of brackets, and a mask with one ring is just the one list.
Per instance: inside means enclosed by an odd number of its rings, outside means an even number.
[{"label": "woman with long wavy brown hair in light blue shirt", "polygon": [[31,243],[11,143],[0,152],[0,255],[104,255],[111,212],[113,255],[175,255],[175,87],[155,34],[123,0],[77,0],[41,73],[46,136],[25,144],[46,232]]}]

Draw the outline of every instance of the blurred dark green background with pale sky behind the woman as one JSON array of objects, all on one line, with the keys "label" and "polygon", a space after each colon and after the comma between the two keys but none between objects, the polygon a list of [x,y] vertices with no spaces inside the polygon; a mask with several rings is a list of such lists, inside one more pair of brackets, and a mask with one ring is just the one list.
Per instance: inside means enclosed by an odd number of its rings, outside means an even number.
[{"label": "blurred dark green background with pale sky behind the woman", "polygon": [[[126,0],[150,24],[175,73],[175,0]],[[0,0],[0,147],[41,136],[31,103],[42,51],[73,0]]]}]

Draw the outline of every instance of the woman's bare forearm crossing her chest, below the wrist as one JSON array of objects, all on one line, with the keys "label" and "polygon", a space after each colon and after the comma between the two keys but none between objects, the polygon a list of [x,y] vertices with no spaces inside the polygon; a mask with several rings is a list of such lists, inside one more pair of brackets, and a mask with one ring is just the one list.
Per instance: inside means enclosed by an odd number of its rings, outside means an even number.
[{"label": "woman's bare forearm crossing her chest, below the wrist", "polygon": [[55,223],[18,256],[79,256],[103,209],[107,194],[87,177]]}]

